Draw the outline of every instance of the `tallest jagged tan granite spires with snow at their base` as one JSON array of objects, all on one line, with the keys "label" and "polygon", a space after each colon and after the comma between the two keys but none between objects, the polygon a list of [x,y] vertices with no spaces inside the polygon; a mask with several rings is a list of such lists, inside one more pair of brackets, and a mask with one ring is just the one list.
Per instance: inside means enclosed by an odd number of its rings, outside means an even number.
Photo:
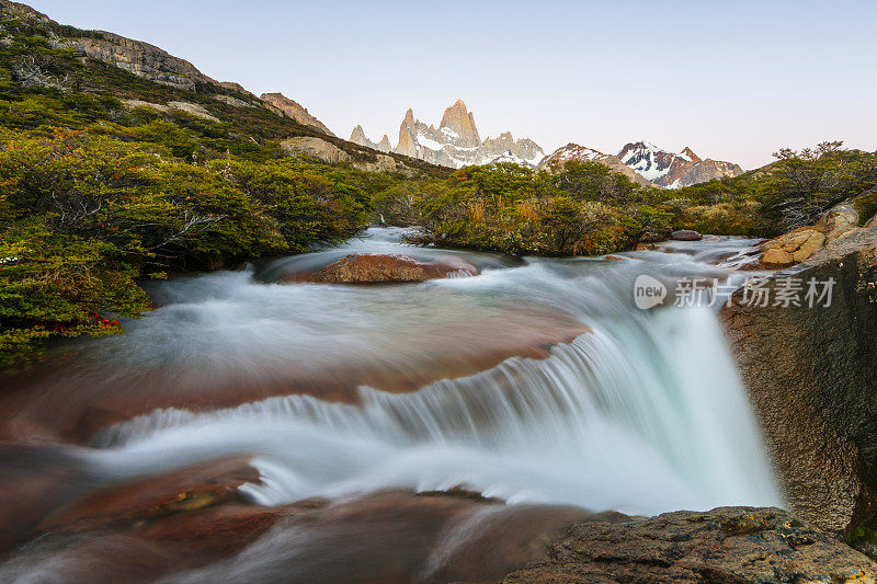
[{"label": "tallest jagged tan granite spires with snow at their base", "polygon": [[[369,148],[378,146],[376,149],[388,144],[381,140],[376,145],[365,136],[361,126],[354,128],[351,141]],[[494,162],[516,162],[534,168],[545,157],[539,145],[528,138],[515,140],[510,131],[482,141],[475,116],[466,108],[463,100],[457,100],[445,110],[437,128],[415,119],[414,112],[409,110],[402,119],[399,141],[392,151],[457,169]]]}]

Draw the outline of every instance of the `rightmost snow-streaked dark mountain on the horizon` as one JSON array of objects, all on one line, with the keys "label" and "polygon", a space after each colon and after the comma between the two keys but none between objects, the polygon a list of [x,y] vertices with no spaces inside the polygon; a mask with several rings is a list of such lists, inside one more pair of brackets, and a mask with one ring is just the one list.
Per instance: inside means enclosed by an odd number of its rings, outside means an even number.
[{"label": "rightmost snow-streaked dark mountain on the horizon", "polygon": [[646,180],[667,188],[679,188],[743,173],[739,164],[704,160],[687,147],[676,153],[647,141],[626,144],[618,152],[618,159]]}]

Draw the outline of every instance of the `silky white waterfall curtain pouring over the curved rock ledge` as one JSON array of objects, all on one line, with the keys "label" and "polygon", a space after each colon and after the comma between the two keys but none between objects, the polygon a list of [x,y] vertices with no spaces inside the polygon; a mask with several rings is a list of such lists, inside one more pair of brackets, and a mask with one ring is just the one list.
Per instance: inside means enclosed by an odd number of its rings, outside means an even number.
[{"label": "silky white waterfall curtain pouring over the curved rock ledge", "polygon": [[[442,286],[472,286],[465,282]],[[510,358],[413,393],[363,386],[360,403],[304,394],[157,410],[100,433],[92,456],[139,474],[250,453],[262,483],[246,490],[263,504],[457,485],[512,503],[633,514],[778,504],[715,314],[599,312],[591,332],[545,359]]]}]

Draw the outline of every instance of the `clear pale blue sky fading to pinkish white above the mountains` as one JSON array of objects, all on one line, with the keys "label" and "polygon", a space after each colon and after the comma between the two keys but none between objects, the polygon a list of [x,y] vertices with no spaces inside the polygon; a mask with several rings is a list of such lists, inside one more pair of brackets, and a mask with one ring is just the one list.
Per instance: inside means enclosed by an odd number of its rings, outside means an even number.
[{"label": "clear pale blue sky fading to pinkish white above the mountains", "polygon": [[877,149],[877,1],[24,0],[147,41],[348,138],[463,98],[481,136],[608,153],[649,140],[760,167],[783,146]]}]

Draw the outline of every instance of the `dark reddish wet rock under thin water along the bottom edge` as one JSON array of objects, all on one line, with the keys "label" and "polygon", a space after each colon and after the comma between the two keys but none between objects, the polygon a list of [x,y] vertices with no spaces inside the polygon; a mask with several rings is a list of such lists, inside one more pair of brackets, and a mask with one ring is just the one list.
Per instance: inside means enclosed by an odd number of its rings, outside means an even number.
[{"label": "dark reddish wet rock under thin water along the bottom edge", "polygon": [[[548,543],[594,515],[442,493],[385,491],[280,507],[237,503],[87,534],[56,533],[16,551],[0,581],[496,582],[546,559]],[[240,552],[240,553],[239,553]]]}]

